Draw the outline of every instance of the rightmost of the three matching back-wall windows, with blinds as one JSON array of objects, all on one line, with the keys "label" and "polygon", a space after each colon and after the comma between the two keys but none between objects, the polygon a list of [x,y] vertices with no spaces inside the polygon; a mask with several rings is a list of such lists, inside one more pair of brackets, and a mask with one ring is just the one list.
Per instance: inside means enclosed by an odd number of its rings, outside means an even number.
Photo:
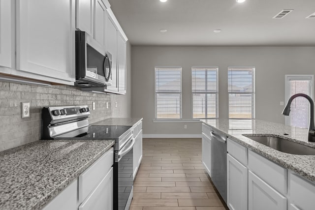
[{"label": "rightmost of the three matching back-wall windows, with blinds", "polygon": [[229,119],[255,119],[255,68],[228,67]]}]

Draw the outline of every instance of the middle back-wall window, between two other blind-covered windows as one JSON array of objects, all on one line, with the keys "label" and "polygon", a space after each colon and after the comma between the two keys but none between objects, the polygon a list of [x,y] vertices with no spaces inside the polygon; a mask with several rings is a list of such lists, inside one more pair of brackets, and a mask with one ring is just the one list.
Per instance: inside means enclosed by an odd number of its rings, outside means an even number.
[{"label": "middle back-wall window, between two other blind-covered windows", "polygon": [[218,67],[192,67],[192,118],[218,118]]}]

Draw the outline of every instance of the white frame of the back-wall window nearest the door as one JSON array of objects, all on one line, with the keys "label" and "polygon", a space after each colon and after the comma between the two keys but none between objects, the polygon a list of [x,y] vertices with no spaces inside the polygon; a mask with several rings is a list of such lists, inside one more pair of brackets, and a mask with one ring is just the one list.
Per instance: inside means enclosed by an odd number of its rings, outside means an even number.
[{"label": "white frame of the back-wall window nearest the door", "polygon": [[[229,86],[229,82],[228,82],[228,72],[229,69],[252,69],[252,87],[253,87],[253,91],[252,92],[244,92],[244,93],[240,93],[240,92],[229,92],[228,90],[228,86]],[[233,93],[238,93],[238,94],[252,94],[252,118],[230,118],[230,94]],[[229,120],[255,120],[256,119],[256,68],[255,66],[228,66],[227,67],[227,116]]]}]

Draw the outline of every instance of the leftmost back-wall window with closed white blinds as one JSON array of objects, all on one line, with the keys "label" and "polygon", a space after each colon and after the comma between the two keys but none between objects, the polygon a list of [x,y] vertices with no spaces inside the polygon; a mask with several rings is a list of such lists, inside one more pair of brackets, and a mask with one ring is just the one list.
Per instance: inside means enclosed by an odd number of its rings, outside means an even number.
[{"label": "leftmost back-wall window with closed white blinds", "polygon": [[156,119],[182,119],[182,68],[155,68]]}]

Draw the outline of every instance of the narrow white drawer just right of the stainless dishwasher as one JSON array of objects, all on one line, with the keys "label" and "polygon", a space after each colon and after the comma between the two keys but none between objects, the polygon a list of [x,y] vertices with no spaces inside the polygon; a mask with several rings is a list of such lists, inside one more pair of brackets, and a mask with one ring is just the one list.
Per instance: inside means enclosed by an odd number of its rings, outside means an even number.
[{"label": "narrow white drawer just right of the stainless dishwasher", "polygon": [[234,142],[231,139],[227,139],[227,152],[241,162],[243,165],[247,166],[247,148]]}]

